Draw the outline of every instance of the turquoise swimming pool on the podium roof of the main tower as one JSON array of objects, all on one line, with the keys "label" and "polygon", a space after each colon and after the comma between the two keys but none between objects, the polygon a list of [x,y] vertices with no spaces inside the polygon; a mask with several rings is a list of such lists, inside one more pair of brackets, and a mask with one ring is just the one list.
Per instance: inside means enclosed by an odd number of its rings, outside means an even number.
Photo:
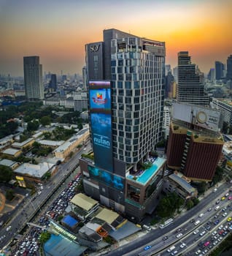
[{"label": "turquoise swimming pool on the podium roof of the main tower", "polygon": [[[164,158],[158,157],[157,159],[155,159],[155,161],[152,162],[152,167],[144,170],[144,172],[140,176],[137,176],[136,182],[146,184],[147,181],[149,181],[150,178],[152,178],[152,176],[154,176],[154,174],[158,170],[160,170],[164,162],[166,162],[166,159]],[[134,179],[134,176],[130,174],[126,178]]]}]

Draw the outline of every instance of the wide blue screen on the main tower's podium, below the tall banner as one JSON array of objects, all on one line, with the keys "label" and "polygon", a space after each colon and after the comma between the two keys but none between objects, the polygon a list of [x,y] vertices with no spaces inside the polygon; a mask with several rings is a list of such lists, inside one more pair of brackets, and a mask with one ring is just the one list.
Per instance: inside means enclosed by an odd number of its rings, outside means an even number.
[{"label": "wide blue screen on the main tower's podium, below the tall banner", "polygon": [[90,177],[100,181],[104,184],[107,184],[109,187],[113,187],[115,189],[122,190],[124,187],[124,179],[120,176],[116,176],[112,173],[108,173],[105,170],[98,169],[97,167],[93,167],[88,165],[88,171],[90,173]]}]

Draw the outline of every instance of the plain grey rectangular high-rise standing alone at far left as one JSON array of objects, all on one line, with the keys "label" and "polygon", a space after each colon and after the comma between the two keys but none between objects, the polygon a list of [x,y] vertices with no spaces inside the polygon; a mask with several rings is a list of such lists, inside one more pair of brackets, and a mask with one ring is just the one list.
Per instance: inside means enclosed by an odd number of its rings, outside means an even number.
[{"label": "plain grey rectangular high-rise standing alone at far left", "polygon": [[27,99],[43,99],[42,64],[39,56],[23,57],[24,85]]}]

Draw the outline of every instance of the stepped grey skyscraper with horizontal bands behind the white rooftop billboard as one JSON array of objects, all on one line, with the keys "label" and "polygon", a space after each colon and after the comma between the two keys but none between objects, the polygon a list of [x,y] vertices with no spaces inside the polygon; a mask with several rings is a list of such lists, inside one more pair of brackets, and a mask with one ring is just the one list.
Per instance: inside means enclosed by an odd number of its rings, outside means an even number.
[{"label": "stepped grey skyscraper with horizontal bands behind the white rooftop billboard", "polygon": [[204,92],[203,82],[202,75],[196,72],[196,64],[191,63],[188,52],[179,52],[177,102],[209,105],[209,97]]}]

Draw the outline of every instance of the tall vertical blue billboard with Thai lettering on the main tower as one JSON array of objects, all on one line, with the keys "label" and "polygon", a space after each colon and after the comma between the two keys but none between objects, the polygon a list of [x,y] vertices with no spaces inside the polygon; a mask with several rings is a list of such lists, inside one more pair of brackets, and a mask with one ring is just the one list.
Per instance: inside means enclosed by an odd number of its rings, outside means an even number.
[{"label": "tall vertical blue billboard with Thai lettering on the main tower", "polygon": [[94,162],[112,171],[112,118],[110,81],[90,81],[90,122]]}]

